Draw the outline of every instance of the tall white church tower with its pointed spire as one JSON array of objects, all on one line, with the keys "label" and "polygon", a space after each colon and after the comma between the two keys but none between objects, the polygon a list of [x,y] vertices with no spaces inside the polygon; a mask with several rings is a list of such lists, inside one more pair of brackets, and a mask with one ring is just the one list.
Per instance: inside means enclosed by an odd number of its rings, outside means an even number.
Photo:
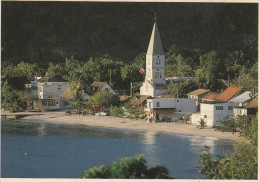
[{"label": "tall white church tower with its pointed spire", "polygon": [[146,53],[145,80],[140,88],[140,95],[159,96],[169,93],[165,80],[165,55],[156,23],[156,18]]}]

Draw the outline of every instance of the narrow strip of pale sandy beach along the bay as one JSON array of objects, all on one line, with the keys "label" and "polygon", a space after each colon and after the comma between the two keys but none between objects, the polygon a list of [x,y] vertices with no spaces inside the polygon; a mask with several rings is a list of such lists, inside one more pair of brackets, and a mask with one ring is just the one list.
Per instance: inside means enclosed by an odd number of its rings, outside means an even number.
[{"label": "narrow strip of pale sandy beach along the bay", "polygon": [[129,118],[119,118],[113,116],[91,116],[66,114],[65,112],[41,112],[41,113],[7,113],[2,114],[28,114],[28,116],[20,120],[31,120],[41,122],[55,122],[67,124],[84,124],[87,126],[122,128],[135,130],[148,130],[169,132],[175,134],[196,135],[204,137],[213,137],[218,139],[229,139],[235,141],[244,141],[243,137],[239,137],[239,133],[215,131],[213,128],[199,129],[196,126],[183,123],[149,123],[144,120],[133,120]]}]

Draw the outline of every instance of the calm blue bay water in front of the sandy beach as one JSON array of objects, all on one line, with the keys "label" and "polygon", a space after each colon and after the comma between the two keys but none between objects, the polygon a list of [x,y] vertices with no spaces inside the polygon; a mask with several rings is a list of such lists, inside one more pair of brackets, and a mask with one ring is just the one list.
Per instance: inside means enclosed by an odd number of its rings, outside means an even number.
[{"label": "calm blue bay water in front of the sandy beach", "polygon": [[[222,155],[222,140],[163,132],[47,122],[2,121],[3,178],[77,178],[84,170],[145,154],[149,166],[164,165],[177,179],[202,179],[201,149]],[[234,141],[224,140],[224,152]]]}]

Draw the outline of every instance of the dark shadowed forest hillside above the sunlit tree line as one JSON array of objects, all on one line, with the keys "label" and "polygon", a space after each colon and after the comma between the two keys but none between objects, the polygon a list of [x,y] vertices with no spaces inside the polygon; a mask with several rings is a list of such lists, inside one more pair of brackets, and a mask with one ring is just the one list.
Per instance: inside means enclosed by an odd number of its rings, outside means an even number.
[{"label": "dark shadowed forest hillside above the sunlit tree line", "polygon": [[183,57],[242,50],[257,59],[256,47],[248,52],[257,44],[257,4],[2,2],[2,64],[104,54],[130,63],[146,52],[155,13],[165,52],[175,44]]}]

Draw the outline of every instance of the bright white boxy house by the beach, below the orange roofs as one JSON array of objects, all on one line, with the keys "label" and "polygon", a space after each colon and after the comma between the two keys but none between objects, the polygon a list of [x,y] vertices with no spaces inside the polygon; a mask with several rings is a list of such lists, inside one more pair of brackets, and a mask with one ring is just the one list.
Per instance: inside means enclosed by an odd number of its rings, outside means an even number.
[{"label": "bright white boxy house by the beach, below the orange roofs", "polygon": [[191,123],[199,125],[201,119],[204,119],[207,127],[218,125],[217,121],[230,120],[234,116],[233,107],[237,107],[237,103],[232,102],[212,102],[200,103],[200,112],[191,115]]}]

